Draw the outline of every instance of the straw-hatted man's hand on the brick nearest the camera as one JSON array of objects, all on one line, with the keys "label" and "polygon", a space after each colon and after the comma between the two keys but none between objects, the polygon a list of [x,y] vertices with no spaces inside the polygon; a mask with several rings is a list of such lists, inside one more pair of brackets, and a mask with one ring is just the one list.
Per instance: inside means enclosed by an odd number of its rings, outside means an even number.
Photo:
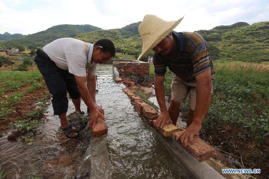
[{"label": "straw-hatted man's hand on the brick nearest the camera", "polygon": [[197,135],[199,137],[198,132],[201,128],[201,124],[192,121],[192,124],[190,124],[185,131],[178,134],[177,141],[181,138],[181,144],[187,147],[188,141],[190,141],[191,144],[193,143],[193,136]]}]

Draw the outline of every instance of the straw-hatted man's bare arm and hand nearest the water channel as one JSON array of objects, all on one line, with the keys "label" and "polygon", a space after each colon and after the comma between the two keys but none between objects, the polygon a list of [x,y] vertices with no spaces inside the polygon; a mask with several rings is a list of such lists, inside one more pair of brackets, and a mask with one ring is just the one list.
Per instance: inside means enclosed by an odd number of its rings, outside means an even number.
[{"label": "straw-hatted man's bare arm and hand nearest the water channel", "polygon": [[155,75],[155,80],[154,80],[155,93],[156,93],[156,98],[157,98],[157,101],[161,110],[161,114],[159,115],[157,121],[154,124],[155,127],[157,127],[157,129],[160,129],[160,126],[161,128],[163,128],[167,120],[169,120],[172,123],[172,120],[169,116],[169,113],[167,111],[167,107],[165,104],[163,82],[164,82],[164,76]]}]

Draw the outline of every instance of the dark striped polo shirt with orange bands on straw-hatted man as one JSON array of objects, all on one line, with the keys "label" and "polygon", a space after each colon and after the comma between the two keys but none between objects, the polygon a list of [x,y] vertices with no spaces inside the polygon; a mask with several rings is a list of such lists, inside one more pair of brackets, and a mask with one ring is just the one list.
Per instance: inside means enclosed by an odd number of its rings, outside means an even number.
[{"label": "dark striped polo shirt with orange bands on straw-hatted man", "polygon": [[155,52],[153,55],[155,75],[164,76],[166,67],[184,81],[194,79],[196,75],[209,68],[211,74],[215,73],[209,46],[200,34],[172,32],[172,35],[177,43],[178,54],[172,58],[169,55],[161,55]]}]

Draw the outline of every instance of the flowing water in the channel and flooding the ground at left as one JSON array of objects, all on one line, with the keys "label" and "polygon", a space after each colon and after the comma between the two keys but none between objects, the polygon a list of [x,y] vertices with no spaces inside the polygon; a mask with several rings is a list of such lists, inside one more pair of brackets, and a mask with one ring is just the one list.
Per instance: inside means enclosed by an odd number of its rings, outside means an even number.
[{"label": "flowing water in the channel and flooding the ground at left", "polygon": [[[136,111],[122,91],[125,86],[114,82],[111,64],[100,64],[97,76],[96,100],[105,111],[112,178],[192,178]],[[69,106],[68,113],[73,112],[71,102]],[[82,109],[86,111],[83,102]],[[0,167],[6,174],[4,178],[72,178],[83,155],[81,151],[71,151],[72,164],[48,164],[59,156],[70,155],[59,145],[62,139],[57,138],[56,132],[60,124],[58,117],[52,115],[51,105],[48,111],[45,124],[30,136],[34,139],[32,145],[27,146],[21,138],[8,141],[10,133],[0,138]]]}]

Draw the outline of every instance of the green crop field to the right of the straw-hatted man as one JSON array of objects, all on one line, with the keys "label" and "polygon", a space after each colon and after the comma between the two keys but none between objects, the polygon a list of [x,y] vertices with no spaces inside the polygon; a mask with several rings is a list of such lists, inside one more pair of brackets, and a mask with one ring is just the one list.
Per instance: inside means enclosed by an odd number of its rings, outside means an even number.
[{"label": "green crop field to the right of the straw-hatted man", "polygon": [[[266,161],[269,155],[268,149],[263,147],[269,140],[268,66],[255,63],[214,63],[214,92],[200,131],[200,135],[216,135],[218,129],[229,126],[247,133],[251,137],[250,142],[255,145],[238,150],[250,153],[247,160],[257,160],[258,163]],[[152,64],[150,76],[154,78]],[[167,96],[171,96],[172,79],[173,73],[167,68],[164,81]],[[181,103],[181,109],[188,112],[188,98],[185,103]]]}]

